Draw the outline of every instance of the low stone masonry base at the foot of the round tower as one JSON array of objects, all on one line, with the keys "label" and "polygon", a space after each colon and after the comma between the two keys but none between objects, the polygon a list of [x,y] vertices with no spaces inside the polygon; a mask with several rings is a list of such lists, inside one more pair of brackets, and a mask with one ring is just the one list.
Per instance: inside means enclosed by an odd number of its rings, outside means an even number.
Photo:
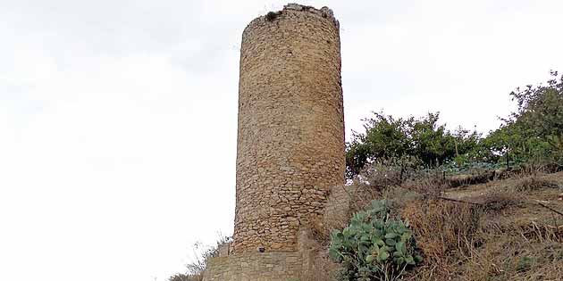
[{"label": "low stone masonry base at the foot of the round tower", "polygon": [[252,252],[209,260],[205,281],[299,281],[298,252]]}]

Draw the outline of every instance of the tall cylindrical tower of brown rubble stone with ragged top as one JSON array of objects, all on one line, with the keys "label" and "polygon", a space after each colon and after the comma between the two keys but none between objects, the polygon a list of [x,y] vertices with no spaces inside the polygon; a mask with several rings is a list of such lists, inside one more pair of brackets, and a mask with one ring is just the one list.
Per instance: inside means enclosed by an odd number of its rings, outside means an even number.
[{"label": "tall cylindrical tower of brown rubble stone with ragged top", "polygon": [[286,5],[242,35],[234,252],[294,252],[345,181],[339,23]]}]

